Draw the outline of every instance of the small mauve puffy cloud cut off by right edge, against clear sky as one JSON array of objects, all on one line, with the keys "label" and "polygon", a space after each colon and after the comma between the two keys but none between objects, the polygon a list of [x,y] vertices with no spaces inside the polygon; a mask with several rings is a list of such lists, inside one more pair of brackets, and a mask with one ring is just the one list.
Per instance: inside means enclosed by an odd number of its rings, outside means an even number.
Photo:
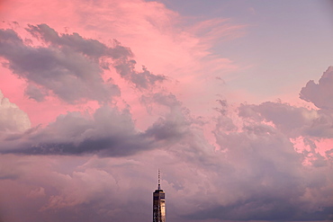
[{"label": "small mauve puffy cloud cut off by right edge, against clear sky", "polygon": [[320,109],[333,109],[333,67],[324,72],[318,84],[311,80],[302,87],[300,98],[312,102]]}]

